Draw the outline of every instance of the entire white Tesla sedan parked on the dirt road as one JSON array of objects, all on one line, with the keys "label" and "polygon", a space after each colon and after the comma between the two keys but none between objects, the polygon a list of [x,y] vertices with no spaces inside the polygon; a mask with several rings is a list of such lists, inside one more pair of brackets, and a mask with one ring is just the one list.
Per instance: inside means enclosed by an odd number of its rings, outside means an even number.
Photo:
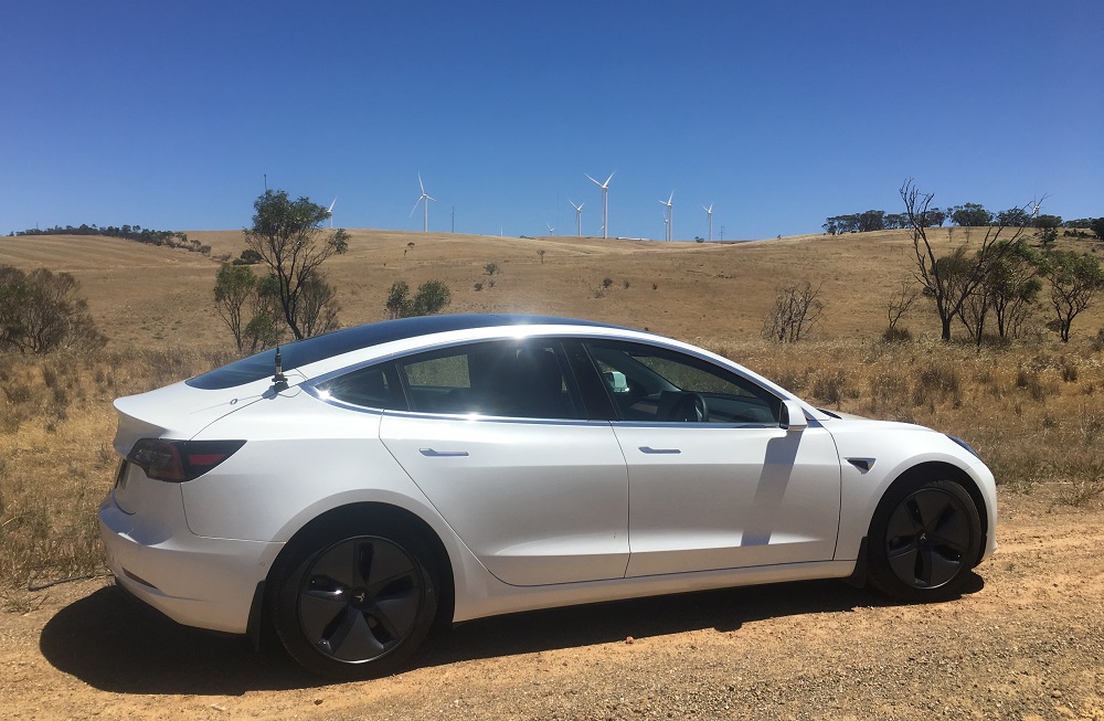
[{"label": "entire white Tesla sedan parked on the dirt road", "polygon": [[391,320],[115,406],[118,584],[274,627],[331,677],[393,671],[435,622],[567,604],[827,577],[946,598],[995,548],[962,441],[596,322]]}]

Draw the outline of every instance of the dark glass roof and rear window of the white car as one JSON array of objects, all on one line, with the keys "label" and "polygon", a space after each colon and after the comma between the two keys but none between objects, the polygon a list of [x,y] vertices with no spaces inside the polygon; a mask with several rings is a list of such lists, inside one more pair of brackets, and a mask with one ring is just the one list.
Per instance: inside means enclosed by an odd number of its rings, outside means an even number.
[{"label": "dark glass roof and rear window of the white car", "polygon": [[[400,318],[344,328],[314,338],[305,338],[279,347],[284,368],[299,368],[342,353],[371,348],[397,340],[433,336],[436,333],[498,328],[503,326],[584,326],[593,328],[623,328],[611,324],[578,318],[514,314],[453,314]],[[243,383],[270,377],[276,367],[276,349],[269,349],[234,361],[202,375],[189,379],[188,385],[203,390],[234,388]]]}]

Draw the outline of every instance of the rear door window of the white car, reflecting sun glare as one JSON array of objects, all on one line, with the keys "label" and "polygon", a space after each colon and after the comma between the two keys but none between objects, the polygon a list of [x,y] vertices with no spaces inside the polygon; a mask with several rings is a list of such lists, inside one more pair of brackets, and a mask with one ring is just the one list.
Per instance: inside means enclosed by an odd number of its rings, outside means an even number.
[{"label": "rear door window of the white car, reflecting sun glare", "polygon": [[580,404],[554,341],[490,341],[397,361],[411,410],[577,418]]}]

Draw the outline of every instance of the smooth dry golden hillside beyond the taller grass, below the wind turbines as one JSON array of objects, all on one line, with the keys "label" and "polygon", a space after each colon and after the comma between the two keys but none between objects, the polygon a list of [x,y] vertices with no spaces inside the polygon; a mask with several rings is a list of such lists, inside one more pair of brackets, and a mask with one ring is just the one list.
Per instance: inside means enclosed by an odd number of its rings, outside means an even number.
[{"label": "smooth dry golden hillside beyond the taller grass, below the wind turbines", "polygon": [[[779,286],[808,280],[821,286],[826,304],[819,338],[871,338],[885,327],[890,294],[912,271],[907,231],[751,243],[349,233],[349,252],[323,266],[338,289],[344,326],[382,319],[393,282],[415,287],[437,278],[453,291],[450,312],[577,316],[689,340],[731,341],[758,336]],[[949,234],[934,234],[943,246],[937,250],[949,250]],[[979,235],[975,231],[975,245]],[[213,255],[236,257],[245,247],[241,231],[189,231],[188,236],[211,245]],[[953,240],[963,242],[964,230],[955,229]],[[1064,243],[1082,252],[1100,245]],[[75,275],[113,346],[213,349],[229,343],[212,305],[217,269],[212,258],[113,237],[49,235],[0,238],[0,263]],[[491,263],[498,267],[493,275],[486,271]],[[605,278],[612,280],[608,287],[603,287]],[[1094,335],[1102,318],[1104,312],[1091,309],[1074,324],[1075,335]],[[903,325],[936,332],[934,315],[923,303]]]}]

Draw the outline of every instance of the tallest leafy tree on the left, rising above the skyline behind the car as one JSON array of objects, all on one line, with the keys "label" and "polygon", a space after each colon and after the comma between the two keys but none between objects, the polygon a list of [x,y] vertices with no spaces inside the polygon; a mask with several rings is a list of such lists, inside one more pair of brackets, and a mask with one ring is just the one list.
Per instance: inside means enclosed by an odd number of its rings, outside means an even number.
[{"label": "tallest leafy tree on the left, rising above the skyline behind the car", "polygon": [[291,201],[286,191],[267,190],[253,203],[253,227],[244,231],[246,245],[278,280],[279,307],[284,321],[298,340],[307,333],[301,327],[299,303],[305,286],[316,282],[319,266],[331,255],[344,253],[349,234],[344,230],[327,233],[322,222],[329,211],[308,198]]}]

